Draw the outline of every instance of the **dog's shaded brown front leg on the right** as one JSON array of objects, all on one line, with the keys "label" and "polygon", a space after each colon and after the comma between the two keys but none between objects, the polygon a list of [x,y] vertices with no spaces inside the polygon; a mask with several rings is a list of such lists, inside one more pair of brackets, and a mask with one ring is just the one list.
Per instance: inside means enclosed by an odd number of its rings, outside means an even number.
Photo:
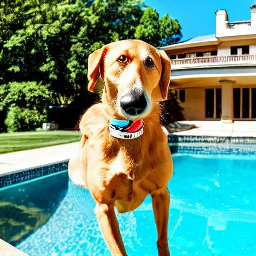
[{"label": "dog's shaded brown front leg on the right", "polygon": [[154,218],[157,227],[158,240],[157,248],[159,256],[169,256],[168,246],[168,219],[170,195],[167,187],[152,191],[152,202],[154,210]]}]

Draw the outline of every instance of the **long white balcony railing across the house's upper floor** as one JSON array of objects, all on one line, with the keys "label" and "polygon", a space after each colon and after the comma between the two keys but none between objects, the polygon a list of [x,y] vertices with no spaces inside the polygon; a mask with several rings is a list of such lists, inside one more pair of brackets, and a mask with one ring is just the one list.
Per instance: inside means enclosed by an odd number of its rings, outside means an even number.
[{"label": "long white balcony railing across the house's upper floor", "polygon": [[171,60],[172,69],[256,65],[256,55],[208,56]]}]

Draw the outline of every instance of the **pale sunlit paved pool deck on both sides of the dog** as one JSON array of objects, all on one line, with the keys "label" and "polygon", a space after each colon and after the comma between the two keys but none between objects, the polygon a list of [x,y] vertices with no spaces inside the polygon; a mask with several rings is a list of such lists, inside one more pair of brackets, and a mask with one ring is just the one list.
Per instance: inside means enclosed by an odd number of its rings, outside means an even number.
[{"label": "pale sunlit paved pool deck on both sides of the dog", "polygon": [[[195,124],[198,128],[175,132],[175,135],[187,136],[232,136],[256,137],[256,121],[235,121],[221,123],[220,121],[183,121]],[[23,169],[68,161],[76,155],[79,142],[50,146],[8,154],[0,154],[0,176]]]}]

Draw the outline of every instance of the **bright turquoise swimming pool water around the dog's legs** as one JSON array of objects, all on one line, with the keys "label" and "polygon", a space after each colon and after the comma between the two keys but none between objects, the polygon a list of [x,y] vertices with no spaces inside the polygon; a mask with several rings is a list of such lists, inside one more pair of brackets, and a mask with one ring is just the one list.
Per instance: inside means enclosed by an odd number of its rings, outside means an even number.
[{"label": "bright turquoise swimming pool water around the dog's legs", "polygon": [[[188,148],[174,150],[168,185],[171,255],[255,256],[256,146],[243,153]],[[110,255],[93,199],[66,171],[8,186],[0,203],[0,236],[29,256]],[[128,255],[157,255],[150,197],[118,220]]]}]

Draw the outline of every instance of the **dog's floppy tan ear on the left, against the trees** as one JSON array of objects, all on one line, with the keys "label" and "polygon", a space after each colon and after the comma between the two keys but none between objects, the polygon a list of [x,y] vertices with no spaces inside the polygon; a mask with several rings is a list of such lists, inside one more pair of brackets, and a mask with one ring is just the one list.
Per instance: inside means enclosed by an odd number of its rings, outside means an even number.
[{"label": "dog's floppy tan ear on the left, against the trees", "polygon": [[[88,59],[88,91],[93,92],[94,87],[99,78],[99,69],[101,61],[106,53],[106,46],[98,49],[89,55]],[[100,70],[101,78],[103,79],[103,70]]]}]

